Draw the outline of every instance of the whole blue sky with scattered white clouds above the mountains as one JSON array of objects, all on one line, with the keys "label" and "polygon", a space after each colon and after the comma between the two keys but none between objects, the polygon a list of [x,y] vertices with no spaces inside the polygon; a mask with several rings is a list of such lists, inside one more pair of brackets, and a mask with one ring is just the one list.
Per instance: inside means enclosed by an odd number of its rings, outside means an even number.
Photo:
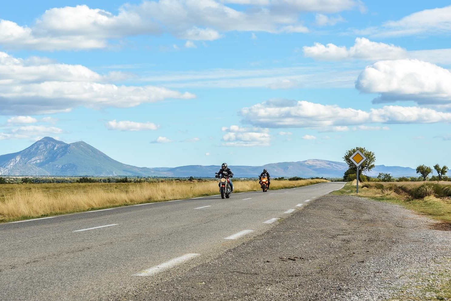
[{"label": "whole blue sky with scattered white clouds above the mountains", "polygon": [[0,154],[451,166],[450,36],[449,0],[7,1]]}]

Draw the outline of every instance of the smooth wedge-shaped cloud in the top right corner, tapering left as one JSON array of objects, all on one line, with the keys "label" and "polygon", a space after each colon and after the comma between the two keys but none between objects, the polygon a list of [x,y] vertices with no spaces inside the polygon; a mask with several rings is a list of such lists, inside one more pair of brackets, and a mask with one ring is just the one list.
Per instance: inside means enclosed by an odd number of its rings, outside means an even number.
[{"label": "smooth wedge-shaped cloud in the top right corner, tapering left", "polygon": [[356,31],[373,36],[442,35],[451,32],[451,6],[425,9],[380,27]]}]

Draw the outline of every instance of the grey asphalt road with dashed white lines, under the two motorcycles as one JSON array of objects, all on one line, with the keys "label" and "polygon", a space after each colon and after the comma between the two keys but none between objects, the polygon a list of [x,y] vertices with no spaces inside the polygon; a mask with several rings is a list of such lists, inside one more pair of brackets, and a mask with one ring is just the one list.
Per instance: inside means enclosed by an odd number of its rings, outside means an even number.
[{"label": "grey asphalt road with dashed white lines, under the two motorcycles", "polygon": [[158,281],[214,262],[271,229],[276,219],[343,185],[328,182],[236,193],[225,200],[210,196],[0,224],[0,300],[97,300],[149,277]]}]

